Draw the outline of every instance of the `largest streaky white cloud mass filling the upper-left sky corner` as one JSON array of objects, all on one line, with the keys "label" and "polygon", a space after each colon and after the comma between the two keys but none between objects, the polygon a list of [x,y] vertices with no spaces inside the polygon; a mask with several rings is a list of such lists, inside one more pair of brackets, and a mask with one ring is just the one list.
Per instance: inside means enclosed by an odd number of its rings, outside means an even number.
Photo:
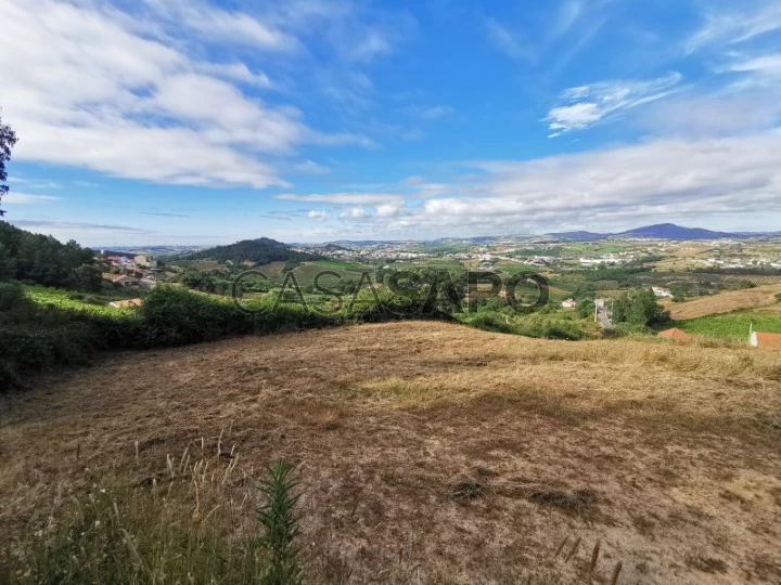
[{"label": "largest streaky white cloud mass filling the upper-left sky corner", "polygon": [[[214,21],[220,41],[243,35],[273,49],[286,42],[240,13],[180,1],[154,5],[191,27]],[[249,98],[229,81],[267,87],[264,73],[192,57],[185,42],[159,34],[143,15],[76,0],[0,1],[0,22],[3,118],[21,138],[18,160],[158,183],[261,188],[287,185],[278,159],[303,143],[371,144],[318,132],[297,109]]]}]

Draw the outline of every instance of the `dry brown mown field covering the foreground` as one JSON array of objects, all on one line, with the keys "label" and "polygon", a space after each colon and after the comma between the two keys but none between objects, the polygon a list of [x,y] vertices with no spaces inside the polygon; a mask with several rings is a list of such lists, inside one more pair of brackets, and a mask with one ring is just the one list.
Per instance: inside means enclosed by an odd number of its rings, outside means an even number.
[{"label": "dry brown mown field covering the foreground", "polygon": [[318,583],[781,583],[781,354],[428,322],[38,380],[0,411],[0,541],[218,444],[298,464]]}]

